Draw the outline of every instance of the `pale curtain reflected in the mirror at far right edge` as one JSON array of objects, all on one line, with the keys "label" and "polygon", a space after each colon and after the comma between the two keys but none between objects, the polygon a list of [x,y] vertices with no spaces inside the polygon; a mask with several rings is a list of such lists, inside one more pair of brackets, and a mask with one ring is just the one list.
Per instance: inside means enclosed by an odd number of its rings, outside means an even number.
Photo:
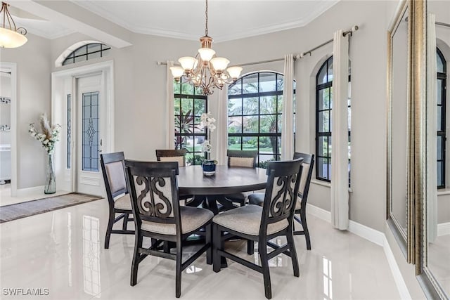
[{"label": "pale curtain reflected in the mirror at far right edge", "polygon": [[436,25],[433,13],[428,14],[427,44],[428,242],[434,242],[437,237],[437,67]]}]

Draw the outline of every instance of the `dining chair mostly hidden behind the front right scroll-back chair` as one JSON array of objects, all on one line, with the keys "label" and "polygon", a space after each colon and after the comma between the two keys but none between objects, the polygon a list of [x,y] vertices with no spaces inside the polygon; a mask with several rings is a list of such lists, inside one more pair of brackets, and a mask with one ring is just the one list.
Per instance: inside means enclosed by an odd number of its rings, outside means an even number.
[{"label": "dining chair mostly hidden behind the front right scroll-back chair", "polygon": [[[311,250],[311,240],[309,237],[309,230],[307,225],[307,200],[309,193],[309,185],[311,183],[312,171],[314,169],[314,154],[295,152],[294,159],[302,158],[303,174],[302,181],[300,181],[300,188],[298,192],[297,202],[295,204],[294,220],[302,225],[303,230],[295,230],[294,235],[304,235],[307,242],[307,249]],[[264,193],[254,193],[248,196],[250,204],[257,204],[262,206],[264,202]],[[297,216],[300,215],[300,218]],[[248,254],[253,254],[254,245],[252,241],[248,244]]]}]

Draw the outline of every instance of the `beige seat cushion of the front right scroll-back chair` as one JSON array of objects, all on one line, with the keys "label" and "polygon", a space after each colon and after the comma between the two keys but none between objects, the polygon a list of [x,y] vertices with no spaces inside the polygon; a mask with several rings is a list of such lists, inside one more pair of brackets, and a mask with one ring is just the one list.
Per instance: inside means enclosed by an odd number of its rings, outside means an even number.
[{"label": "beige seat cushion of the front right scroll-back chair", "polygon": [[[225,211],[214,216],[212,221],[220,226],[235,230],[238,233],[246,235],[259,235],[259,226],[261,225],[262,207],[257,205],[246,205],[237,209]],[[288,220],[284,219],[267,226],[267,234],[277,233],[288,227]]]}]

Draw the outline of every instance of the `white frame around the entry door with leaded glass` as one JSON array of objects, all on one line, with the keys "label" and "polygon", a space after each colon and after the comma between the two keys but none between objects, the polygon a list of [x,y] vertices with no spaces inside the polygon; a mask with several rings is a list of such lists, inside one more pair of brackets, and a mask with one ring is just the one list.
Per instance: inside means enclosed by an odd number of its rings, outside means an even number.
[{"label": "white frame around the entry door with leaded glass", "polygon": [[[75,151],[72,151],[72,163],[71,168],[66,168],[66,147],[65,143],[67,139],[67,93],[70,91],[72,95],[72,124],[74,116],[74,103],[73,99],[76,98],[76,80],[77,77],[84,77],[89,74],[95,74],[101,72],[104,82],[105,90],[105,103],[106,103],[106,126],[108,132],[105,132],[106,140],[108,141],[103,145],[103,152],[114,151],[114,63],[113,60],[108,60],[102,63],[95,63],[92,65],[85,65],[82,67],[74,67],[68,70],[62,70],[51,73],[51,122],[53,124],[60,124],[63,128],[61,130],[61,137],[59,146],[56,145],[55,150],[55,173],[56,173],[56,185],[60,188],[58,190],[65,190],[73,192],[76,190],[76,166]],[[69,82],[69,84],[68,84]],[[72,126],[72,132],[76,130]],[[72,150],[74,134],[72,134]],[[104,193],[104,192],[103,192]]]}]

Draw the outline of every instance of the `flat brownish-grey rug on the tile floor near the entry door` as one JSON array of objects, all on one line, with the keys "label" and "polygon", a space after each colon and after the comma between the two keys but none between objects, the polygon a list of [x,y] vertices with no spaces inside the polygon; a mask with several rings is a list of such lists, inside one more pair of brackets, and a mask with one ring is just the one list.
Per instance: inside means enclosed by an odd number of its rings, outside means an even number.
[{"label": "flat brownish-grey rug on the tile floor near the entry door", "polygon": [[0,207],[0,223],[25,218],[26,216],[33,216],[35,214],[43,214],[44,212],[63,209],[65,207],[72,207],[77,204],[83,204],[100,199],[103,199],[103,197],[70,193],[18,204],[5,205],[4,207]]}]

